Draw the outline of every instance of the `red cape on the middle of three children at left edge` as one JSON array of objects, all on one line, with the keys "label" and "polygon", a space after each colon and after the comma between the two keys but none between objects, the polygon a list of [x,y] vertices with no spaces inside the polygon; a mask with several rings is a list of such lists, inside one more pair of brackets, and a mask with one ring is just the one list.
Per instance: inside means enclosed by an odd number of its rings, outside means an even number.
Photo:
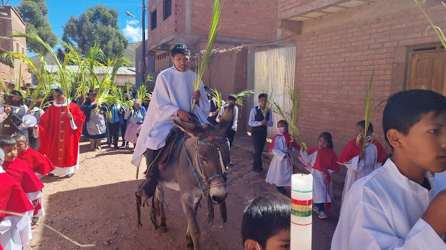
[{"label": "red cape on the middle of three children at left edge", "polygon": [[43,183],[31,168],[19,158],[16,157],[12,162],[5,161],[1,167],[3,167],[6,173],[15,178],[15,181],[20,184],[26,194],[42,190]]}]

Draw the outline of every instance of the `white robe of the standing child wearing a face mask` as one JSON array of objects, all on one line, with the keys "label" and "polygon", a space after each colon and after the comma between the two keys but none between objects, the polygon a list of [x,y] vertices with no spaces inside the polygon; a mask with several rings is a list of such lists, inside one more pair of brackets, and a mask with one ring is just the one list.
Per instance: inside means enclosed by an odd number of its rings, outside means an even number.
[{"label": "white robe of the standing child wearing a face mask", "polygon": [[293,167],[291,167],[293,150],[288,149],[284,136],[277,136],[274,140],[274,149],[271,151],[274,157],[266,175],[266,182],[275,184],[277,187],[290,187],[291,174],[293,174]]}]

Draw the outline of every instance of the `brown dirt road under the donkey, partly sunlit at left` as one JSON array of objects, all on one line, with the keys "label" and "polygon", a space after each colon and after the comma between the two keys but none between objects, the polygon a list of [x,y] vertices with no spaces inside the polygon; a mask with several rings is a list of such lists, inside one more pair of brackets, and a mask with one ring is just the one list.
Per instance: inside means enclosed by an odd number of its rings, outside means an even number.
[{"label": "brown dirt road under the donkey, partly sunlit at left", "polygon": [[[179,192],[166,189],[167,233],[155,231],[150,222],[149,208],[142,208],[143,226],[137,227],[134,190],[142,181],[135,180],[136,167],[130,164],[130,149],[88,150],[81,144],[80,166],[72,178],[45,176],[42,181],[45,217],[33,226],[33,240],[28,249],[59,250],[81,249],[41,225],[45,222],[81,244],[95,244],[83,249],[186,249],[187,221],[179,202]],[[206,220],[206,201],[199,208],[201,249],[243,249],[240,223],[247,201],[261,192],[275,192],[275,186],[265,182],[266,176],[251,172],[252,157],[249,152],[232,149],[235,166],[229,169],[226,199],[228,222],[222,224],[216,212],[213,224]],[[268,169],[267,165],[264,165]],[[141,165],[145,169],[145,163]],[[289,191],[289,190],[288,190]],[[322,221],[313,215],[313,249],[330,249],[330,242],[337,224],[336,203]]]}]

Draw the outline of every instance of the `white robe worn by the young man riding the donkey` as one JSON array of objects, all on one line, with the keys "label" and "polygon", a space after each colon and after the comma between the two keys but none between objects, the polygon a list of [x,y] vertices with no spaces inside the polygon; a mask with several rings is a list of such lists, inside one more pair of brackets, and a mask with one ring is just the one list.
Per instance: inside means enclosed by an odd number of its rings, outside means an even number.
[{"label": "white robe worn by the young man riding the donkey", "polygon": [[[192,78],[195,72],[187,69],[180,72],[175,66],[161,72],[156,79],[153,98],[148,105],[147,117],[142,124],[141,133],[134,149],[132,164],[139,167],[146,149],[161,149],[166,145],[166,138],[175,124],[179,109],[190,111],[194,88]],[[203,85],[199,88],[201,98],[199,105],[195,105],[194,114],[201,124],[208,124],[210,104]]]}]

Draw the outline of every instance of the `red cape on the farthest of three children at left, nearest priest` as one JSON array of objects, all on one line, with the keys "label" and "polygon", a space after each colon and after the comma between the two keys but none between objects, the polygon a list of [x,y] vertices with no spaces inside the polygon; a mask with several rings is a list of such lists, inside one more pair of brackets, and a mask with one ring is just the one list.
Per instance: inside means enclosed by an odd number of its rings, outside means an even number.
[{"label": "red cape on the farthest of three children at left, nearest priest", "polygon": [[52,172],[56,167],[54,164],[46,158],[42,153],[28,148],[19,154],[18,158],[23,160],[26,165],[31,167],[33,172],[46,176],[49,172]]}]

